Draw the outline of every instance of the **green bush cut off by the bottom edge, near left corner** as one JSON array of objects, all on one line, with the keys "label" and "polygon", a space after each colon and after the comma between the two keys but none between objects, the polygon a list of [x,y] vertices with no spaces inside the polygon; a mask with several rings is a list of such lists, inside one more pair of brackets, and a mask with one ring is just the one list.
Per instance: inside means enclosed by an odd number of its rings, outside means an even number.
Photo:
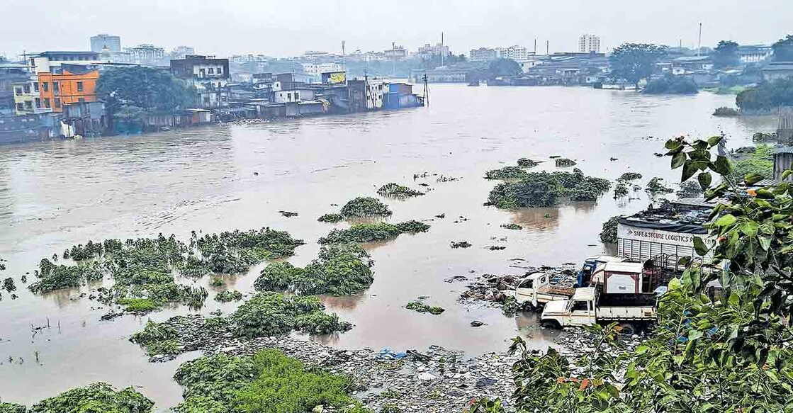
[{"label": "green bush cut off by the bottom edge, near left corner", "polygon": [[154,402],[134,388],[116,391],[106,383],[73,388],[30,407],[30,413],[150,413]]}]

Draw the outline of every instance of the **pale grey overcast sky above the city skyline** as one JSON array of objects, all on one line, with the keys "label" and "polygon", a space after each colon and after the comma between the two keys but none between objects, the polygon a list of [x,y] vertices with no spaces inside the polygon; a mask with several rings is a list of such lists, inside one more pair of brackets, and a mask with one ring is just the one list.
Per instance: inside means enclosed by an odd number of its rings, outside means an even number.
[{"label": "pale grey overcast sky above the city skyline", "polygon": [[572,51],[583,33],[601,49],[624,42],[684,46],[770,43],[793,33],[793,0],[2,0],[0,54],[88,50],[96,33],[197,53],[299,55],[306,50],[415,50],[440,41],[454,53],[522,44]]}]

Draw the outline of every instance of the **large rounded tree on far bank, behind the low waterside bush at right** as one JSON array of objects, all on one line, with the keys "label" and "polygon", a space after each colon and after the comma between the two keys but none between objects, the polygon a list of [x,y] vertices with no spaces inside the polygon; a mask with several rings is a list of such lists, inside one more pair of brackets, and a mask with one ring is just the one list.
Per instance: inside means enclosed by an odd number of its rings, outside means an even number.
[{"label": "large rounded tree on far bank, behind the low waterside bush at right", "polygon": [[615,48],[609,57],[611,77],[625,79],[638,86],[643,78],[653,74],[658,60],[666,55],[666,47],[656,44],[626,43]]}]

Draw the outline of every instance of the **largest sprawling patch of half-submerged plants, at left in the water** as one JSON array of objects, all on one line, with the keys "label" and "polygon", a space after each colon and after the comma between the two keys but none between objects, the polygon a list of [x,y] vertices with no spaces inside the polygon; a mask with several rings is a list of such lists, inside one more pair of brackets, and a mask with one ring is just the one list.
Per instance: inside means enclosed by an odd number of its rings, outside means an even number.
[{"label": "largest sprawling patch of half-submerged plants, at left in the water", "polygon": [[[39,280],[29,285],[29,289],[33,293],[48,293],[99,281],[108,274],[115,284],[109,289],[98,289],[99,300],[105,304],[119,304],[129,312],[149,312],[164,304],[200,308],[209,295],[206,289],[177,284],[175,273],[186,277],[241,273],[266,259],[289,257],[302,244],[302,240],[293,239],[288,232],[270,228],[224,231],[201,238],[193,232],[189,244],[175,235],[125,242],[89,241],[63,252],[64,258],[76,261],[74,265],[42,259],[35,272]],[[213,285],[216,285],[214,279]]]}]

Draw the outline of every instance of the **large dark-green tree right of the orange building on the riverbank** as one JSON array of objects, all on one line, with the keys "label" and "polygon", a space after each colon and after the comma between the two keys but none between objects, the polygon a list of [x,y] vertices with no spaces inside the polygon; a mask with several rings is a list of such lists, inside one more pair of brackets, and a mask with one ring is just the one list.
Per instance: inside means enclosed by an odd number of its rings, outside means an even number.
[{"label": "large dark-green tree right of the orange building on the riverbank", "polygon": [[99,77],[97,91],[105,101],[144,110],[173,111],[197,101],[193,86],[151,67],[113,67]]}]

